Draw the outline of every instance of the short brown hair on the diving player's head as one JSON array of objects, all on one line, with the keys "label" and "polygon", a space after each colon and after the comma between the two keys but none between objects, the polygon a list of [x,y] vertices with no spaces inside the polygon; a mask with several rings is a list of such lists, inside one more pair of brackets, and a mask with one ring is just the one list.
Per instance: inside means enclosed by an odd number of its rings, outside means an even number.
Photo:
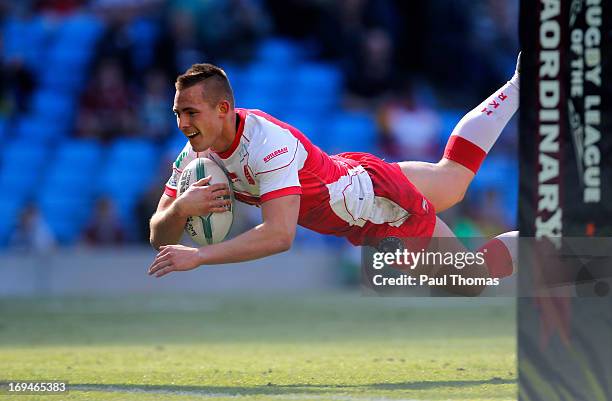
[{"label": "short brown hair on the diving player's head", "polygon": [[225,71],[212,64],[194,64],[176,78],[176,90],[183,90],[206,82],[204,99],[212,106],[221,100],[227,100],[234,107],[234,92]]}]

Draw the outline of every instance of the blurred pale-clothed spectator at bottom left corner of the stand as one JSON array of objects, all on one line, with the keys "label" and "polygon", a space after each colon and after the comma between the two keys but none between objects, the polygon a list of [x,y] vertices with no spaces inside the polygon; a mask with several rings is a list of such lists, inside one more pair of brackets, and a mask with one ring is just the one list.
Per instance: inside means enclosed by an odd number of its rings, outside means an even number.
[{"label": "blurred pale-clothed spectator at bottom left corner of the stand", "polygon": [[45,253],[55,246],[55,237],[38,208],[33,204],[26,206],[9,238],[9,248],[28,253]]}]

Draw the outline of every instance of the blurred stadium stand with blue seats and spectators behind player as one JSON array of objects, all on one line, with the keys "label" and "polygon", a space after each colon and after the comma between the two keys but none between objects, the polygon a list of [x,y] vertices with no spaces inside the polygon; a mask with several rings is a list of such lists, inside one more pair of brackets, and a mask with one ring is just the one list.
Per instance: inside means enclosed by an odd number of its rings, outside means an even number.
[{"label": "blurred stadium stand with blue seats and spectators behind player", "polygon": [[[185,143],[173,84],[193,63],[220,65],[238,107],[291,123],[328,153],[437,161],[462,115],[512,75],[517,3],[0,1],[0,264],[148,246]],[[516,126],[443,215],[459,236],[515,228]],[[244,231],[259,210],[236,218]],[[294,252],[304,250],[358,260],[345,241],[300,229]]]}]

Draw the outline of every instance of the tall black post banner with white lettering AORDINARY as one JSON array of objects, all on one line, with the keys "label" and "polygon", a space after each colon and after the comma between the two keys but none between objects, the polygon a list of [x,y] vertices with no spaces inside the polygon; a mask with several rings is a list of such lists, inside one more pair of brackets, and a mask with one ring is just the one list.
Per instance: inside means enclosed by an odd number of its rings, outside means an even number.
[{"label": "tall black post banner with white lettering AORDINARY", "polygon": [[561,239],[612,236],[610,3],[521,1],[519,229],[539,244],[520,249],[519,291],[560,284],[518,300],[524,401],[612,400],[612,266]]}]

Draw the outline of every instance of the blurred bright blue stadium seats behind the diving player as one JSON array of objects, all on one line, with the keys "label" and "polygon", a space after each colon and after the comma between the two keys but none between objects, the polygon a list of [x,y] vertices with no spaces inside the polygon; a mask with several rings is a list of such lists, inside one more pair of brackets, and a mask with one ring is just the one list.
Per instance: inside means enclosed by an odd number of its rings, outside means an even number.
[{"label": "blurred bright blue stadium seats behind the diving player", "polygon": [[[141,15],[126,26],[128,40],[139,44],[131,58],[137,64],[133,67],[144,69],[155,57],[160,25]],[[2,22],[0,55],[4,60],[23,60],[37,86],[27,113],[0,116],[0,138],[8,142],[0,149],[0,186],[10,194],[0,201],[0,246],[19,210],[32,200],[62,244],[77,241],[99,196],[110,196],[124,221],[130,222],[135,202],[158,174],[162,153],[150,140],[120,138],[103,145],[73,139],[80,92],[91,75],[105,28],[103,18],[85,11],[53,18],[36,12],[8,15]],[[328,153],[378,153],[373,113],[346,110],[339,65],[317,60],[303,43],[263,38],[250,62],[219,64],[230,78],[238,107],[261,109],[287,121]],[[465,111],[440,111],[440,148]],[[175,155],[184,145],[176,130],[163,145],[164,155]],[[503,190],[509,211],[505,215],[514,218],[517,193],[507,183],[516,180],[515,162],[493,157],[477,176],[473,191]]]}]

